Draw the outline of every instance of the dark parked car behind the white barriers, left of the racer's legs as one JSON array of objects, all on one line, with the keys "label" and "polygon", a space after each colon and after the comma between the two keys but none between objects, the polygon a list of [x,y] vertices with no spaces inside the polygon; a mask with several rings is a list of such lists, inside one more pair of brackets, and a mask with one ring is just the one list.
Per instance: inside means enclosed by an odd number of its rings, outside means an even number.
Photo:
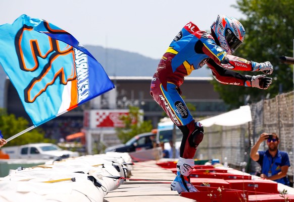
[{"label": "dark parked car behind the white barriers, left of the racer's legs", "polygon": [[134,152],[138,150],[147,150],[152,149],[154,143],[156,143],[156,134],[153,132],[146,132],[138,134],[126,142],[126,144],[106,148],[105,152]]}]

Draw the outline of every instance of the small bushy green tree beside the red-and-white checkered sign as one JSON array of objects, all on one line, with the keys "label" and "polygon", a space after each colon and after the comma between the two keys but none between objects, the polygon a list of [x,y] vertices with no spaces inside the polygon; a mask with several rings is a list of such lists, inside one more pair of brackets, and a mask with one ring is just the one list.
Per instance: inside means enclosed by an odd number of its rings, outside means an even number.
[{"label": "small bushy green tree beside the red-and-white checkered sign", "polygon": [[129,114],[121,116],[119,119],[123,121],[125,127],[116,127],[118,138],[126,143],[128,140],[143,132],[150,132],[153,128],[151,120],[141,121],[140,117],[143,115],[140,109],[135,106],[129,106]]}]

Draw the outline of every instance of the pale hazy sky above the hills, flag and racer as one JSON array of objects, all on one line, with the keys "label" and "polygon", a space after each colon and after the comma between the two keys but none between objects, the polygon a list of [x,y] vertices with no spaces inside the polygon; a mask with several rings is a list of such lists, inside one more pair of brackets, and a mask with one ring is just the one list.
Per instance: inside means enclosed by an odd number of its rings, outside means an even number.
[{"label": "pale hazy sky above the hills, flag and racer", "polygon": [[83,45],[158,59],[189,21],[209,31],[218,14],[244,19],[232,5],[236,0],[2,0],[0,25],[26,14],[66,30]]}]

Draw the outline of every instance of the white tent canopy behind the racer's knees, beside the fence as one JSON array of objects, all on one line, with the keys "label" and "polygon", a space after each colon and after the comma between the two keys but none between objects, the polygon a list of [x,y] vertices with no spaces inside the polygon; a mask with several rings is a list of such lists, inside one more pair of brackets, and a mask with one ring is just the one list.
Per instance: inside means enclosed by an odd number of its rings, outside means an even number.
[{"label": "white tent canopy behind the racer's knees, beside the fence", "polygon": [[205,127],[210,127],[214,124],[223,126],[241,125],[252,121],[250,106],[241,106],[239,109],[235,109],[217,116],[206,118],[200,122]]}]

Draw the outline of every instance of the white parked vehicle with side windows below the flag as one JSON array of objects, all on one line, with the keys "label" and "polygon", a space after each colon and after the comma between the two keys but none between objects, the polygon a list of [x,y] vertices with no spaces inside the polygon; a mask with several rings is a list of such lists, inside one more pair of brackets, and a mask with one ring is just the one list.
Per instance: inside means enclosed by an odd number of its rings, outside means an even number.
[{"label": "white parked vehicle with side windows below the flag", "polygon": [[10,159],[57,159],[78,157],[77,152],[62,150],[51,143],[36,143],[22,146],[2,147],[2,152],[9,155]]}]

